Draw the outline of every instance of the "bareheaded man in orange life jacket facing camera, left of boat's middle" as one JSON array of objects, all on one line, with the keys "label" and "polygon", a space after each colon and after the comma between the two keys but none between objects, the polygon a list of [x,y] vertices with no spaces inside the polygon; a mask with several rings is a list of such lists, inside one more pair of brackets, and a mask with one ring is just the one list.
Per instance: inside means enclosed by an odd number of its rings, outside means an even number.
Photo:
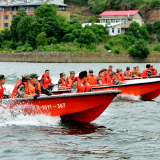
[{"label": "bareheaded man in orange life jacket facing camera, left of boat's middle", "polygon": [[50,91],[53,90],[53,87],[56,86],[56,84],[52,83],[52,79],[50,77],[50,71],[47,69],[45,70],[45,73],[41,77],[41,85],[43,88],[46,88]]}]

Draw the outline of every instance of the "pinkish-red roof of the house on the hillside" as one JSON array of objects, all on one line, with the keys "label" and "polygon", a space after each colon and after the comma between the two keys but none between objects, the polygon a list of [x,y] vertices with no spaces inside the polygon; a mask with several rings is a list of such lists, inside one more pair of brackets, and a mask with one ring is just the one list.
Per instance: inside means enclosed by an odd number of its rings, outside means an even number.
[{"label": "pinkish-red roof of the house on the hillside", "polygon": [[100,14],[100,16],[127,16],[128,14],[130,15],[135,15],[138,13],[139,10],[129,10],[129,11],[104,11],[103,13]]}]

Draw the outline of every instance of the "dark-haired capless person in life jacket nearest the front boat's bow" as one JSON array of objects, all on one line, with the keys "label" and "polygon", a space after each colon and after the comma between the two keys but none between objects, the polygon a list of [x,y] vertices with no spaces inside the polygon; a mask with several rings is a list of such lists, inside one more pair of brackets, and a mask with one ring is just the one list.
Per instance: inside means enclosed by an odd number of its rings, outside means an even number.
[{"label": "dark-haired capless person in life jacket nearest the front boat's bow", "polygon": [[76,81],[72,85],[71,93],[93,92],[87,79],[87,71],[80,72],[79,77],[76,77]]}]

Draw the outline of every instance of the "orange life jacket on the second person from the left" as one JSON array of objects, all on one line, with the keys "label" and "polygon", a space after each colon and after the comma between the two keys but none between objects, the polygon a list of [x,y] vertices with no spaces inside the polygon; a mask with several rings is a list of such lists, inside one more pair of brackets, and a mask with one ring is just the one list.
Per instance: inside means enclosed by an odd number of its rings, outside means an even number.
[{"label": "orange life jacket on the second person from the left", "polygon": [[[16,85],[15,85],[15,87],[14,87],[14,89],[13,89],[13,92],[12,92],[12,94],[11,94],[11,98],[20,98],[20,97],[16,97],[17,96],[17,89],[18,89],[18,87],[20,86],[22,84],[22,80],[20,79],[17,83],[16,83]],[[28,86],[28,83],[27,82],[23,82],[23,84],[24,84],[24,87],[25,87],[25,92],[26,92],[26,94],[28,94],[29,95],[29,86]]]}]

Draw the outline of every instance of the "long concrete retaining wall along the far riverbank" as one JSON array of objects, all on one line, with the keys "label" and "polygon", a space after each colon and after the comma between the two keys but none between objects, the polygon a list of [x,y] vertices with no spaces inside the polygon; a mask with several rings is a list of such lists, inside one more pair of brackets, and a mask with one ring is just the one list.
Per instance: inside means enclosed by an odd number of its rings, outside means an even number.
[{"label": "long concrete retaining wall along the far riverbank", "polygon": [[129,54],[114,53],[0,53],[1,62],[45,63],[159,63],[160,54],[150,54],[146,59],[132,58]]}]

